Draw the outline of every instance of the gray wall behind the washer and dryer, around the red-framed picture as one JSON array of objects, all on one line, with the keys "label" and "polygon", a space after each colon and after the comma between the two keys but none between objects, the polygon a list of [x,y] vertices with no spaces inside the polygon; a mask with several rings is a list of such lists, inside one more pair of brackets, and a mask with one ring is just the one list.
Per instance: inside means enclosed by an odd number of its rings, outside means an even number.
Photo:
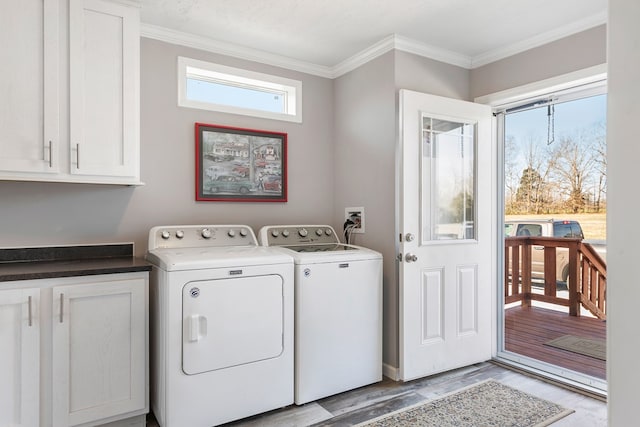
[{"label": "gray wall behind the washer and dryer, around the red-framed picture", "polygon": [[[303,123],[177,107],[178,55],[303,82]],[[333,82],[141,40],[142,187],[0,181],[0,246],[135,242],[154,225],[327,223],[333,218]],[[288,133],[289,202],[195,202],[194,123]]]}]

